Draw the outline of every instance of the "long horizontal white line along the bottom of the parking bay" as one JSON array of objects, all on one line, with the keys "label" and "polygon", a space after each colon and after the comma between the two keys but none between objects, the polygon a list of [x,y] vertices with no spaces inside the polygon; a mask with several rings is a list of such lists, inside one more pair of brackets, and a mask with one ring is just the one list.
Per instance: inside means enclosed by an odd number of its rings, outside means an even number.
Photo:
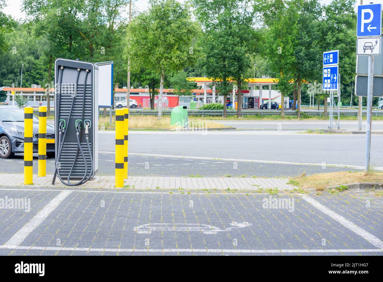
[{"label": "long horizontal white line along the bottom of the parking bay", "polygon": [[42,251],[82,251],[82,252],[203,252],[203,253],[343,253],[343,252],[383,252],[382,249],[97,249],[97,248],[68,248],[68,247],[39,247],[39,246],[0,246],[0,249],[42,250]]}]

